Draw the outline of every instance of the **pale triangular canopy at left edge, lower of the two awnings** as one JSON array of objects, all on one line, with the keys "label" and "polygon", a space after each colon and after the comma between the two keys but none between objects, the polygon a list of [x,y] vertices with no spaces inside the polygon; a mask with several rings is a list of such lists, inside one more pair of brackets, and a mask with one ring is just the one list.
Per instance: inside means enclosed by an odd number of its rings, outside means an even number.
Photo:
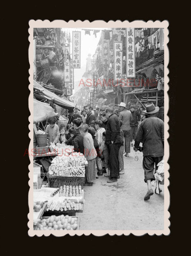
[{"label": "pale triangular canopy at left edge, lower of the two awnings", "polygon": [[42,122],[51,117],[57,116],[58,113],[54,112],[54,109],[47,103],[40,102],[36,99],[33,99],[33,123]]}]

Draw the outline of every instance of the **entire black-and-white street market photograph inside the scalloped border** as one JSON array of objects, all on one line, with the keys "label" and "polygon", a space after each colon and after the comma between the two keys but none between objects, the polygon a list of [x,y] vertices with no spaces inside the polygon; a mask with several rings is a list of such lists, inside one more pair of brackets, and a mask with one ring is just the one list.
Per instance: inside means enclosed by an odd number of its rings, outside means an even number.
[{"label": "entire black-and-white street market photograph inside the scalloped border", "polygon": [[164,229],[164,86],[164,28],[33,28],[34,230]]}]

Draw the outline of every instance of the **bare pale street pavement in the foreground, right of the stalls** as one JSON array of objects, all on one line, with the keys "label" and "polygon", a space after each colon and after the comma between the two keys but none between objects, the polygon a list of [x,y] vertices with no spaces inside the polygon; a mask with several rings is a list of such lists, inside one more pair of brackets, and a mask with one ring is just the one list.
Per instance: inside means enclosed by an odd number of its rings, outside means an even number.
[{"label": "bare pale street pavement in the foreground, right of the stalls", "polygon": [[[144,201],[147,184],[142,168],[143,153],[131,147],[124,157],[125,174],[118,182],[107,183],[99,176],[92,187],[85,188],[85,204],[80,216],[80,230],[161,230],[164,225],[164,192]],[[164,190],[164,186],[160,185]],[[155,187],[152,187],[153,191]]]}]

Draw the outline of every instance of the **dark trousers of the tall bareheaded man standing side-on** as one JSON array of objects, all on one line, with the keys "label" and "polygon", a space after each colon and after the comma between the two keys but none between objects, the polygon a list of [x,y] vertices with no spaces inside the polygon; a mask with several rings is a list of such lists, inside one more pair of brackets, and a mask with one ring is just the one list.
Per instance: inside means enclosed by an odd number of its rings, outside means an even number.
[{"label": "dark trousers of the tall bareheaded man standing side-on", "polygon": [[119,148],[121,144],[110,143],[108,145],[109,150],[109,167],[111,178],[117,178],[119,175]]}]

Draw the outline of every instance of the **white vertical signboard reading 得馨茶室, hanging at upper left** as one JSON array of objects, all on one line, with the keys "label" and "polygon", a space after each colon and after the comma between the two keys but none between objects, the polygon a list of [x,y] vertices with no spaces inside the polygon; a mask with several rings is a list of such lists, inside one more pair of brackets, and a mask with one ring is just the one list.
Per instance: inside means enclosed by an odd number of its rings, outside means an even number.
[{"label": "white vertical signboard reading \u5f97\u99a8\u8336\u5ba4, hanging at upper left", "polygon": [[72,68],[80,68],[81,32],[72,31]]}]

